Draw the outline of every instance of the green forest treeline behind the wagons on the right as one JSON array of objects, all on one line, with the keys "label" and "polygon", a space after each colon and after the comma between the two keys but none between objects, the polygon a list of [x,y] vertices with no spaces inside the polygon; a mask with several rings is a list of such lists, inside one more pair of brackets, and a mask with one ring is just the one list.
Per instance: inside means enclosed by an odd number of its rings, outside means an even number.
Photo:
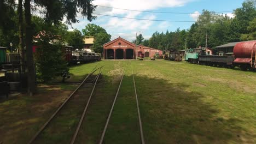
[{"label": "green forest treeline behind the wagons on the right", "polygon": [[[236,41],[256,39],[256,9],[254,1],[245,1],[242,8],[234,10],[234,18],[216,14],[213,11],[203,10],[197,21],[189,29],[177,29],[174,32],[166,31],[153,33],[148,40],[138,35],[137,44],[154,47],[159,50],[205,47],[214,48],[219,45]],[[133,41],[134,43],[135,41]]]}]

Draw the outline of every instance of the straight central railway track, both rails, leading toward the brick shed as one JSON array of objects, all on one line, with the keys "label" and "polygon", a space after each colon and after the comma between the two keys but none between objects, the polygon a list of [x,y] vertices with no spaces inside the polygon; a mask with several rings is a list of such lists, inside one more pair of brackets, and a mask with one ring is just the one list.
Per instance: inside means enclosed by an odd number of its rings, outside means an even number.
[{"label": "straight central railway track, both rails, leading toward the brick shed", "polygon": [[[137,97],[137,91],[136,91],[136,83],[135,83],[135,79],[134,79],[132,64],[130,63],[130,65],[131,65],[131,69],[132,69],[133,87],[134,87],[135,97],[136,97],[136,105],[137,105],[137,113],[138,113],[138,121],[139,121],[139,122],[138,122],[138,123],[139,123],[139,131],[140,131],[140,135],[141,135],[141,143],[144,144],[145,141],[144,141],[144,135],[143,135],[142,122],[141,122],[141,114],[140,114],[140,112],[139,112],[139,103],[138,103],[138,97]],[[126,67],[127,67],[127,64],[126,64],[125,69],[124,69],[124,71],[123,71],[123,75],[122,75],[122,77],[121,77],[121,80],[120,80],[120,83],[119,83],[119,87],[118,87],[118,89],[117,89],[117,93],[115,94],[115,98],[114,98],[113,104],[112,104],[112,106],[111,106],[111,109],[110,109],[110,112],[109,112],[109,115],[108,115],[106,124],[105,124],[105,126],[104,126],[103,131],[102,131],[101,138],[100,138],[100,142],[99,142],[100,144],[103,143],[104,136],[105,136],[106,131],[107,131],[107,128],[108,128],[109,120],[110,120],[110,117],[112,116],[112,112],[113,112],[113,109],[114,109],[114,106],[115,106],[115,102],[117,101],[118,94],[119,94],[119,90],[120,90],[121,84],[122,84],[122,82],[123,82],[123,78],[124,78],[124,74],[125,74]]]}]

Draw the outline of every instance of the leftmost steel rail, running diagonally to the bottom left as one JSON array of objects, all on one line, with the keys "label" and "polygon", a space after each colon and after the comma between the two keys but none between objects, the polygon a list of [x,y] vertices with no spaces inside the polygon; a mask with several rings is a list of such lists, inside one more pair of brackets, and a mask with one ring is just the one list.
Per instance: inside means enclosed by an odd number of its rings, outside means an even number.
[{"label": "leftmost steel rail, running diagonally to the bottom left", "polygon": [[[102,68],[103,66],[101,66],[100,68]],[[34,140],[37,139],[37,136],[45,129],[45,127],[51,122],[51,119],[53,119],[57,113],[62,109],[62,107],[67,103],[67,101],[74,95],[75,92],[77,92],[77,90],[84,84],[84,82],[88,79],[89,76],[91,76],[96,70],[100,69],[100,68],[97,68],[97,69],[93,69],[91,71],[91,73],[89,73],[85,79],[80,83],[80,85],[74,90],[73,93],[71,93],[71,95],[69,95],[69,97],[61,104],[61,106],[54,112],[54,114],[48,119],[48,121],[46,121],[44,123],[44,125],[37,131],[36,135],[34,135],[32,137],[32,139],[28,142],[28,144],[31,144]]]}]

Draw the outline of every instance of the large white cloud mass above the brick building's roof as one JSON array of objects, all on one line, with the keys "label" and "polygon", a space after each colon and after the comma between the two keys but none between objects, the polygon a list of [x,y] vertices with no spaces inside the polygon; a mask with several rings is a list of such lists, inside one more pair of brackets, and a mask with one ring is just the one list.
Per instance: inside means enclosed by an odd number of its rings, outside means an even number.
[{"label": "large white cloud mass above the brick building's roof", "polygon": [[[157,15],[154,13],[142,13],[141,11],[130,11],[122,9],[154,11],[160,8],[182,7],[191,1],[195,0],[95,0],[92,3],[98,5],[96,11],[94,12],[95,14],[155,20]],[[101,7],[101,5],[110,8]],[[169,22],[161,22],[160,25],[157,26],[156,23],[158,22],[154,21],[122,19],[119,17],[99,15],[95,16],[97,16],[97,20],[93,21],[93,23],[96,23],[97,25],[100,25],[106,29],[106,31],[112,35],[112,39],[118,38],[120,36],[131,41],[135,39],[137,31],[146,32],[153,25],[156,25],[156,28],[160,29],[165,29],[165,27],[170,26]],[[83,20],[81,15],[78,15],[78,19],[80,22],[73,24],[74,28],[82,29],[87,23],[89,23],[86,19]],[[143,37],[148,39],[150,35],[144,33]]]}]

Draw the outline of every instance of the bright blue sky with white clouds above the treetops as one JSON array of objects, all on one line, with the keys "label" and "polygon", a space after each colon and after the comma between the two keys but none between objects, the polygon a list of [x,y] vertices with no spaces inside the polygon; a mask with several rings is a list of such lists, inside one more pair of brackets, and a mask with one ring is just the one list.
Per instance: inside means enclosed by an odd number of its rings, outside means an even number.
[{"label": "bright blue sky with white clouds above the treetops", "polygon": [[[104,5],[113,8],[97,7],[95,13],[103,15],[114,15],[121,17],[131,17],[137,19],[150,20],[181,20],[181,21],[196,21],[203,9],[210,11],[232,11],[242,7],[243,0],[95,0],[92,3]],[[159,14],[159,13],[143,13],[138,11],[120,10],[133,9],[143,11],[164,11],[164,12],[179,12],[193,14]],[[230,17],[234,17],[232,12],[227,12]],[[82,19],[78,15],[79,23],[74,23],[73,28],[80,31],[88,24],[95,23],[107,30],[112,35],[111,39],[119,36],[133,40],[136,37],[136,32],[140,31],[145,39],[149,39],[155,31],[166,32],[175,31],[177,28],[188,29],[193,22],[159,22],[159,21],[144,21],[121,19],[117,17],[97,16],[97,20],[89,22]],[[72,29],[70,29],[72,30]]]}]

